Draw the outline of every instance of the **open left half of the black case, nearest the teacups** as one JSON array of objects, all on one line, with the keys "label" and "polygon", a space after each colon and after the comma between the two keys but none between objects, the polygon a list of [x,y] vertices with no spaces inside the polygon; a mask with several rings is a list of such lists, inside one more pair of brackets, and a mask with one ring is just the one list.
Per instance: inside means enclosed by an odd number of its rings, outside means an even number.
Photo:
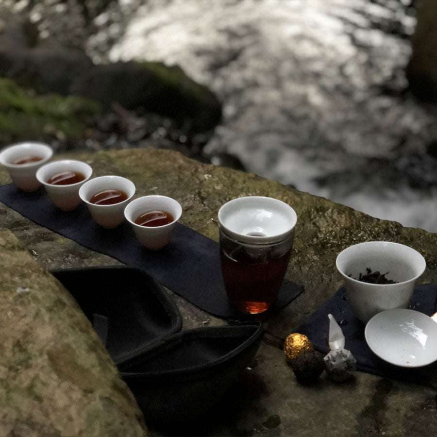
[{"label": "open left half of the black case, nearest the teacups", "polygon": [[182,317],[163,288],[130,267],[54,270],[76,299],[116,364],[180,331]]}]

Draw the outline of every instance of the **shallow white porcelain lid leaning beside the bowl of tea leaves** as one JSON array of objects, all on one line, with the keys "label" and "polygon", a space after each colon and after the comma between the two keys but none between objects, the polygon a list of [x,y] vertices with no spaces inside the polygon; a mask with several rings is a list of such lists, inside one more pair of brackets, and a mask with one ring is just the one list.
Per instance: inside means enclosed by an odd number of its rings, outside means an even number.
[{"label": "shallow white porcelain lid leaning beside the bowl of tea leaves", "polygon": [[364,334],[373,353],[387,363],[421,367],[437,360],[437,323],[419,311],[396,308],[378,313]]}]

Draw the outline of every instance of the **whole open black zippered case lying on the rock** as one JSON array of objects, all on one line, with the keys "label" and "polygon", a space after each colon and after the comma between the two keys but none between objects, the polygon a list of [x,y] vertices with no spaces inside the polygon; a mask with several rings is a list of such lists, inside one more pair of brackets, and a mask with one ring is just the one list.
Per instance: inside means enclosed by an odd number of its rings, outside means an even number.
[{"label": "whole open black zippered case lying on the rock", "polygon": [[91,267],[51,274],[93,324],[146,421],[202,416],[249,366],[261,342],[259,322],[182,330],[170,296],[141,269]]}]

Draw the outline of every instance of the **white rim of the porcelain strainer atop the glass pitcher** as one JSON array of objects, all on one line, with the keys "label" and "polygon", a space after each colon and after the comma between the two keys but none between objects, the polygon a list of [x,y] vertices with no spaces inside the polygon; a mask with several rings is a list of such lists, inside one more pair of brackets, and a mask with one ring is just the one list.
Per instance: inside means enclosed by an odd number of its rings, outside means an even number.
[{"label": "white rim of the porcelain strainer atop the glass pitcher", "polygon": [[[230,229],[229,227],[227,227],[223,223],[223,219],[220,218],[220,216],[223,215],[223,211],[225,211],[226,208],[229,208],[230,206],[232,206],[233,203],[251,202],[252,199],[253,199],[253,201],[262,200],[262,201],[267,201],[270,203],[277,203],[277,204],[283,206],[285,209],[292,212],[292,215],[294,216],[293,217],[294,222],[290,225],[289,229],[286,232],[282,232],[280,234],[275,234],[275,235],[244,235],[244,234],[239,234],[239,233],[233,231],[232,229]],[[297,220],[298,220],[296,211],[288,203],[283,202],[279,199],[275,199],[274,197],[268,197],[268,196],[243,196],[243,197],[237,197],[235,199],[231,199],[230,201],[221,205],[220,209],[218,210],[217,218],[218,218],[218,226],[219,226],[219,228],[221,228],[225,232],[225,234],[231,236],[236,241],[250,243],[250,244],[269,244],[269,243],[273,244],[273,243],[278,243],[278,242],[284,241],[288,237],[293,235],[294,230],[296,228]]]}]

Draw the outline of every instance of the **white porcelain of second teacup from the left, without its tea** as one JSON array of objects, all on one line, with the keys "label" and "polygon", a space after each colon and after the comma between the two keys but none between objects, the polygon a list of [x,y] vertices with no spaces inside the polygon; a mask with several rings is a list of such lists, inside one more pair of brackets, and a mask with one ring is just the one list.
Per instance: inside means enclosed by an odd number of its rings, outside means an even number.
[{"label": "white porcelain of second teacup from the left, without its tea", "polygon": [[[52,185],[47,181],[52,176],[62,171],[78,171],[85,176],[85,179],[76,184]],[[64,159],[54,161],[40,167],[36,172],[36,179],[44,185],[51,201],[63,211],[75,209],[81,202],[79,188],[91,177],[93,169],[83,161]]]}]

